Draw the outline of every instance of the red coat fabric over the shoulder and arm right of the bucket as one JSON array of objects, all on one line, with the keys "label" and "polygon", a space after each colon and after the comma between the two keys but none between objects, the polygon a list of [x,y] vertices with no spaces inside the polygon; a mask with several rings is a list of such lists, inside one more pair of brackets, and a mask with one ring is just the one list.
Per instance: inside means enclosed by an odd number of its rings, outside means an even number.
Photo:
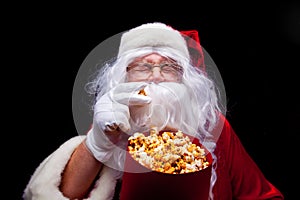
[{"label": "red coat fabric over the shoulder and arm right of the bucket", "polygon": [[215,154],[218,159],[213,189],[216,200],[284,199],[248,155],[227,120]]}]

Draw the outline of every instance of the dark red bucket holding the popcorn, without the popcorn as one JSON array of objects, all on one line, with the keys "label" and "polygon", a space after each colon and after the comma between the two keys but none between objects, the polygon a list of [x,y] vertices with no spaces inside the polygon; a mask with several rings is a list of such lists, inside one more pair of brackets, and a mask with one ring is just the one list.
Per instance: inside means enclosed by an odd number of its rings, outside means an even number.
[{"label": "dark red bucket holding the popcorn, without the popcorn", "polygon": [[205,150],[209,162],[208,167],[196,172],[168,174],[151,171],[127,152],[120,200],[207,200],[213,159],[197,139],[191,141]]}]

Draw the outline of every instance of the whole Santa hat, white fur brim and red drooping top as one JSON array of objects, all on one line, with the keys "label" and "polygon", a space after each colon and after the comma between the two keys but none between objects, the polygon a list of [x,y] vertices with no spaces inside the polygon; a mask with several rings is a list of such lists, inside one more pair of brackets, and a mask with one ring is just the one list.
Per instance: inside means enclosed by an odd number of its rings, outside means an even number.
[{"label": "whole Santa hat, white fur brim and red drooping top", "polygon": [[140,47],[169,47],[191,59],[205,71],[204,54],[197,30],[178,31],[161,22],[147,23],[125,32],[121,37],[118,57]]}]

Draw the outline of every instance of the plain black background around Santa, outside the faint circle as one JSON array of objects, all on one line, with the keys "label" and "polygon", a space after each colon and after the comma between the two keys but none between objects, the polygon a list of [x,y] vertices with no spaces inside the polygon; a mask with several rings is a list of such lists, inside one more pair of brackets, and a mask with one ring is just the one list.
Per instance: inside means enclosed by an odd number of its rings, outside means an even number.
[{"label": "plain black background around Santa, outside the faint circle", "polygon": [[265,176],[286,199],[295,199],[299,3],[112,4],[11,5],[4,16],[3,109],[9,113],[3,125],[9,131],[2,154],[10,199],[20,199],[39,163],[77,135],[72,90],[90,51],[112,35],[154,21],[199,31],[222,75],[229,121]]}]

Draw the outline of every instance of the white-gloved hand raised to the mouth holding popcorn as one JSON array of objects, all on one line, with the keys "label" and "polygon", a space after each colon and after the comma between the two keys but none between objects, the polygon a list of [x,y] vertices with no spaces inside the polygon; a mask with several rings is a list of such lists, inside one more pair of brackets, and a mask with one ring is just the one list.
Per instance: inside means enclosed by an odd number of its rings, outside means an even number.
[{"label": "white-gloved hand raised to the mouth holding popcorn", "polygon": [[97,160],[109,167],[122,169],[127,134],[131,133],[129,107],[143,107],[151,102],[150,97],[138,94],[146,85],[145,82],[119,84],[95,104],[93,127],[87,134],[86,146]]}]

